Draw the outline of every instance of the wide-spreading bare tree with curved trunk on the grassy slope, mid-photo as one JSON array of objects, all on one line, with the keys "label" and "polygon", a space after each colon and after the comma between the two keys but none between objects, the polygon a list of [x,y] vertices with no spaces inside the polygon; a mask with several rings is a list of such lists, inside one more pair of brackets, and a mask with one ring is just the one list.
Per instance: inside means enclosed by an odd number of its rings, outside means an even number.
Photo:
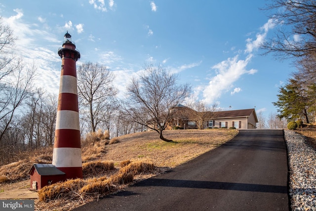
[{"label": "wide-spreading bare tree with curved trunk on the grassy slope, mid-photo", "polygon": [[125,111],[131,121],[159,133],[163,141],[172,141],[162,135],[174,117],[173,108],[191,94],[190,84],[176,84],[177,75],[161,65],[145,65],[145,72],[127,85]]}]

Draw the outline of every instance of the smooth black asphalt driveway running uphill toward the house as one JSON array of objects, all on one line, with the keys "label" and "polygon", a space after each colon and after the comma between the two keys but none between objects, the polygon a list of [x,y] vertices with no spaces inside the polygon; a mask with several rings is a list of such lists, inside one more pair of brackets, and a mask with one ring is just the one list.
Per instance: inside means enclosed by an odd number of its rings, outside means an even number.
[{"label": "smooth black asphalt driveway running uphill toward the house", "polygon": [[76,211],[289,210],[282,130],[240,130],[222,146]]}]

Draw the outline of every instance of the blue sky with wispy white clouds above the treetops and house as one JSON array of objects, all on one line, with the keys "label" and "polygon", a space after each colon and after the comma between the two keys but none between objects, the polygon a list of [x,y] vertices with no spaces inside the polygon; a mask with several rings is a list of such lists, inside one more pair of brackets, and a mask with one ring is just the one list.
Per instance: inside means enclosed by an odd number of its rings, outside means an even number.
[{"label": "blue sky with wispy white clouds above the treetops and house", "polygon": [[278,88],[295,69],[263,56],[276,24],[267,1],[0,0],[0,15],[18,37],[16,53],[35,63],[37,85],[58,94],[57,50],[68,31],[81,53],[116,75],[119,96],[145,63],[162,64],[191,83],[195,97],[223,110],[276,112]]}]

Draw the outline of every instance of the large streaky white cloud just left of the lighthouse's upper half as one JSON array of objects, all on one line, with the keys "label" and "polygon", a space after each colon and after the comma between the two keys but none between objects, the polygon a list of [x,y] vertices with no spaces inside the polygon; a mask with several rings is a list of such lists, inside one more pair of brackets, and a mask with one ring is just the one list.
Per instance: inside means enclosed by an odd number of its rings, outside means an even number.
[{"label": "large streaky white cloud just left of the lighthouse's upper half", "polygon": [[[2,17],[4,23],[14,30],[17,36],[16,55],[23,57],[26,64],[33,64],[38,68],[39,76],[35,84],[51,93],[58,93],[61,59],[56,49],[63,40],[56,39],[55,34],[38,29],[37,24],[27,24],[23,21],[21,9],[14,9],[16,15]],[[40,19],[38,19],[40,21]],[[39,37],[42,38],[39,40]],[[43,44],[45,43],[45,44]],[[53,46],[53,50],[46,46]],[[56,71],[57,70],[57,71]]]}]

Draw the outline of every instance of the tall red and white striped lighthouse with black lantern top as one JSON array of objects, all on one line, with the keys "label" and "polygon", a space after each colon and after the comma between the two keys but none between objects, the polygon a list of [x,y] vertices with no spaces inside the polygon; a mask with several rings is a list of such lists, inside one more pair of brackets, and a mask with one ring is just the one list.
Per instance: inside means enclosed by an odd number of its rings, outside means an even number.
[{"label": "tall red and white striped lighthouse with black lantern top", "polygon": [[76,71],[80,52],[68,32],[58,55],[62,59],[62,65],[52,164],[66,173],[66,179],[82,178]]}]

